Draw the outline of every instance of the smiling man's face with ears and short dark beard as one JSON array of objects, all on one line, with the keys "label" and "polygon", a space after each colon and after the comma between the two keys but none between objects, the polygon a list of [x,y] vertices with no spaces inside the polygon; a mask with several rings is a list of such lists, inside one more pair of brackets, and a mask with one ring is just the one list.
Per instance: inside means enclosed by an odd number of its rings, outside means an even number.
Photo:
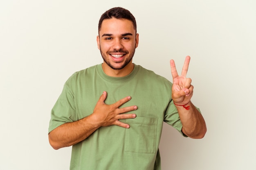
[{"label": "smiling man's face with ears and short dark beard", "polygon": [[97,36],[102,58],[114,70],[132,65],[132,57],[138,41],[139,35],[136,34],[132,22],[125,19],[103,20],[99,36]]}]

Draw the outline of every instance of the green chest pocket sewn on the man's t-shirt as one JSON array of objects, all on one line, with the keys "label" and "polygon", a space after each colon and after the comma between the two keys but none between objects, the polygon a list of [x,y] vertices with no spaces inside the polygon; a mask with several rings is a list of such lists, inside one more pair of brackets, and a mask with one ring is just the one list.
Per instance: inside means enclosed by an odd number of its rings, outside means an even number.
[{"label": "green chest pocket sewn on the man's t-shirt", "polygon": [[156,153],[157,119],[137,116],[126,119],[130,125],[125,132],[124,151],[134,153]]}]

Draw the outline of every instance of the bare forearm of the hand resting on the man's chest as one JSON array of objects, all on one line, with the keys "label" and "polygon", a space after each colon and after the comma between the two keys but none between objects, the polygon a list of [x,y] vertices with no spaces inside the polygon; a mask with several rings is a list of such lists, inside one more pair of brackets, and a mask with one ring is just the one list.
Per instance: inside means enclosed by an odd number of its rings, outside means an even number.
[{"label": "bare forearm of the hand resting on the man's chest", "polygon": [[99,127],[99,124],[92,120],[92,115],[68,122],[49,133],[49,143],[54,149],[72,146],[86,139]]}]

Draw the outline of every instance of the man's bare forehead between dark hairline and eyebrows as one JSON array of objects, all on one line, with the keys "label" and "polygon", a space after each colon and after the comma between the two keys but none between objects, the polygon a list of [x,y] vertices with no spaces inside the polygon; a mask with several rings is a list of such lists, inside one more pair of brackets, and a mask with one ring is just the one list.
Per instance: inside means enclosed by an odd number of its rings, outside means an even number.
[{"label": "man's bare forehead between dark hairline and eyebrows", "polygon": [[99,33],[100,35],[122,33],[132,33],[134,35],[135,29],[130,20],[111,18],[103,20]]}]

